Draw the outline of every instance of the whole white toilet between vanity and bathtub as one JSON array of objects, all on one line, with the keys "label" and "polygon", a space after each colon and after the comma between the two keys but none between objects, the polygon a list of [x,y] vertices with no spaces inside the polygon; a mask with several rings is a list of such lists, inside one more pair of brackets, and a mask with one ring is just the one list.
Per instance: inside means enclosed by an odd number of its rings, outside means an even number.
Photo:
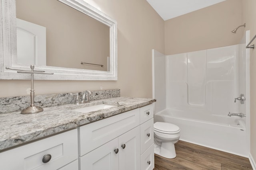
[{"label": "whole white toilet between vanity and bathtub", "polygon": [[165,158],[175,158],[174,144],[180,139],[180,128],[171,123],[154,123],[154,152]]}]

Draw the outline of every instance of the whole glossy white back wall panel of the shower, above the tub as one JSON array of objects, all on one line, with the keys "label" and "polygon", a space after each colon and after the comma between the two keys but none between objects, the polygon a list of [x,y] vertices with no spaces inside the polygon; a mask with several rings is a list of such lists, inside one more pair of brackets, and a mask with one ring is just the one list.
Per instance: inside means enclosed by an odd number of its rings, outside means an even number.
[{"label": "whole glossy white back wall panel of the shower, above the tub", "polygon": [[[166,56],[166,106],[227,115],[238,112],[239,45]],[[239,94],[238,94],[239,96]]]}]

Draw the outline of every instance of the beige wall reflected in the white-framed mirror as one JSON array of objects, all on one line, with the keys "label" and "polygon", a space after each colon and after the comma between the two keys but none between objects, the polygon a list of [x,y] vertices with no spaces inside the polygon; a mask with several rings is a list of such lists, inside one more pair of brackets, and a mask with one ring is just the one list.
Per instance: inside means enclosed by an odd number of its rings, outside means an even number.
[{"label": "beige wall reflected in the white-framed mirror", "polygon": [[16,17],[46,27],[47,66],[107,71],[107,25],[57,0],[16,0]]}]

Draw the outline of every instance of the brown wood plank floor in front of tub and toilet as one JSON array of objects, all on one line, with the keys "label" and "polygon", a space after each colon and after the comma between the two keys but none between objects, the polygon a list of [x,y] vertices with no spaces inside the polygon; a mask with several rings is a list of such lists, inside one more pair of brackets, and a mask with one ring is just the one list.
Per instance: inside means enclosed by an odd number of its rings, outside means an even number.
[{"label": "brown wood plank floor in front of tub and toilet", "polygon": [[248,158],[179,141],[176,158],[155,154],[154,170],[252,170]]}]

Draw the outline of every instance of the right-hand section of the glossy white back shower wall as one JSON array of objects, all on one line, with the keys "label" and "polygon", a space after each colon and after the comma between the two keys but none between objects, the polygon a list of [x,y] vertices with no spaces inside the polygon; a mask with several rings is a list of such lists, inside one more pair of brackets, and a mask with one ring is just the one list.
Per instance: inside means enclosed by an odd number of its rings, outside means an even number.
[{"label": "right-hand section of the glossy white back shower wall", "polygon": [[[238,87],[236,71],[237,45],[208,49],[206,64],[206,87],[208,99],[206,109],[213,114],[227,115],[238,111],[234,94]],[[208,87],[209,86],[209,87]]]}]

